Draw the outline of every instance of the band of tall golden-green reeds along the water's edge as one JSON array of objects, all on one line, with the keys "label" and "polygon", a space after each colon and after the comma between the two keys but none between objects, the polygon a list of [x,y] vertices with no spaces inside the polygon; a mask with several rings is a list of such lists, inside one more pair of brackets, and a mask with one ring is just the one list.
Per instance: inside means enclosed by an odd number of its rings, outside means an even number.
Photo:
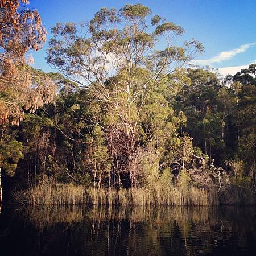
[{"label": "band of tall golden-green reeds along the water's edge", "polygon": [[13,193],[16,203],[28,205],[217,205],[217,192],[204,188],[85,188],[76,184],[42,183]]}]

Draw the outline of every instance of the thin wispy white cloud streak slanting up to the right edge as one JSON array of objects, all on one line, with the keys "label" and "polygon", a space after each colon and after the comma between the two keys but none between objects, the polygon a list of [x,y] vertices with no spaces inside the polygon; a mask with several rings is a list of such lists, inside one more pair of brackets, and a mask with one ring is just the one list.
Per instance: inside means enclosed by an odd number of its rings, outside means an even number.
[{"label": "thin wispy white cloud streak slanting up to the right edge", "polygon": [[242,46],[232,49],[230,51],[224,51],[218,54],[217,56],[207,59],[207,60],[193,60],[194,65],[210,65],[213,63],[220,63],[224,60],[232,59],[232,57],[236,56],[238,53],[245,52],[247,49],[249,49],[252,46],[255,46],[256,43],[250,43],[250,44],[242,44]]}]

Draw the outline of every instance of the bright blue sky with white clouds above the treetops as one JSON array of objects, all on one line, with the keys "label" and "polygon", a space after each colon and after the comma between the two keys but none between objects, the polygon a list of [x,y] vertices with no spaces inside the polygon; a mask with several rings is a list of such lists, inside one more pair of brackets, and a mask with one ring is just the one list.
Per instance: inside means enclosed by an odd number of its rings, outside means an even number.
[{"label": "bright blue sky with white clouds above the treetops", "polygon": [[[142,3],[152,13],[181,25],[185,40],[196,38],[205,47],[195,64],[210,65],[220,72],[235,73],[256,62],[255,0],[31,0],[30,8],[38,9],[51,38],[51,27],[57,22],[90,20],[101,7],[120,9],[126,3]],[[45,61],[47,43],[42,51],[33,52],[35,67],[51,71]]]}]

